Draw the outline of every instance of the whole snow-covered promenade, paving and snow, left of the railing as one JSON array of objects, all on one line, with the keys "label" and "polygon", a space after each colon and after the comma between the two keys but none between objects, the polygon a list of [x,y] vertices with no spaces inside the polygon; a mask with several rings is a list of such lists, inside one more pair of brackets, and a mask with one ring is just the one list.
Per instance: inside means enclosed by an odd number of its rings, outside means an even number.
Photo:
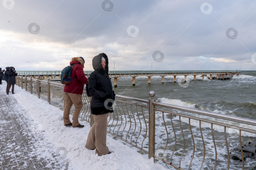
[{"label": "whole snow-covered promenade, paving and snow, left of the railing", "polygon": [[[90,125],[64,127],[63,111],[15,86],[7,95],[0,85],[0,167],[6,169],[166,169],[107,137],[112,152],[98,156],[84,147]],[[72,120],[72,115],[70,115]]]}]

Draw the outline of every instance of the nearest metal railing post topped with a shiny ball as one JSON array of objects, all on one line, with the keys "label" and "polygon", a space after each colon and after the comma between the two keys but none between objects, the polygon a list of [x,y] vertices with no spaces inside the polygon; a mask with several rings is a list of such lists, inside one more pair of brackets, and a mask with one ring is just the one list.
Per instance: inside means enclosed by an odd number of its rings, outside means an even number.
[{"label": "nearest metal railing post topped with a shiny ball", "polygon": [[155,92],[149,92],[150,99],[149,99],[149,158],[155,155],[155,102],[154,96]]}]

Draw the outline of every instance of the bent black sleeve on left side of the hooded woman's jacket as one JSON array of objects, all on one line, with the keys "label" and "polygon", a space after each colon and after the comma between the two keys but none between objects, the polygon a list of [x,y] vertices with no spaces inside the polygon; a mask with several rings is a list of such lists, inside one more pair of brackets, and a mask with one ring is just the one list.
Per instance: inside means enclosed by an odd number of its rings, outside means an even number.
[{"label": "bent black sleeve on left side of the hooded woman's jacket", "polygon": [[104,98],[110,94],[108,91],[103,92],[103,91],[97,89],[97,80],[96,80],[94,72],[92,72],[90,74],[89,81],[88,81],[88,90],[89,90],[90,95],[95,98]]}]

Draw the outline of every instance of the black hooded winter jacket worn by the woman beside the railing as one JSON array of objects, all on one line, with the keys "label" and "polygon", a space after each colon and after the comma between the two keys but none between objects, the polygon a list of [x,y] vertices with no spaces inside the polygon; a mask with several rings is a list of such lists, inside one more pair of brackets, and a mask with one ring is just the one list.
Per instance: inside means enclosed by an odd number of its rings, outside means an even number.
[{"label": "black hooded winter jacket worn by the woman beside the railing", "polygon": [[[106,60],[105,70],[101,64],[101,57]],[[88,90],[91,99],[91,113],[101,115],[113,112],[114,91],[111,80],[108,76],[108,58],[107,55],[101,53],[92,60],[94,71],[88,78]]]}]

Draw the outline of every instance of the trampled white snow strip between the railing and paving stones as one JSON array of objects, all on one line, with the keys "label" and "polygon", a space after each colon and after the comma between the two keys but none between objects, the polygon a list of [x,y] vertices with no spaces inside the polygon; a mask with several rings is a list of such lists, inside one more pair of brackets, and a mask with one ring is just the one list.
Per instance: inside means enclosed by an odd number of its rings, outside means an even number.
[{"label": "trampled white snow strip between the railing and paving stones", "polygon": [[[1,88],[5,92],[5,88]],[[79,120],[84,128],[65,127],[63,111],[48,104],[47,101],[26,92],[15,85],[15,94],[9,97],[17,100],[16,110],[22,110],[31,119],[31,132],[40,136],[37,143],[37,154],[42,157],[52,157],[45,150],[53,150],[63,162],[69,162],[68,169],[166,169],[153,158],[141,155],[119,141],[107,136],[107,146],[112,152],[98,156],[95,150],[86,149],[85,143],[90,130],[87,122]],[[17,119],[19,117],[16,117]],[[72,115],[70,115],[72,121]],[[29,122],[30,123],[30,122]]]}]

